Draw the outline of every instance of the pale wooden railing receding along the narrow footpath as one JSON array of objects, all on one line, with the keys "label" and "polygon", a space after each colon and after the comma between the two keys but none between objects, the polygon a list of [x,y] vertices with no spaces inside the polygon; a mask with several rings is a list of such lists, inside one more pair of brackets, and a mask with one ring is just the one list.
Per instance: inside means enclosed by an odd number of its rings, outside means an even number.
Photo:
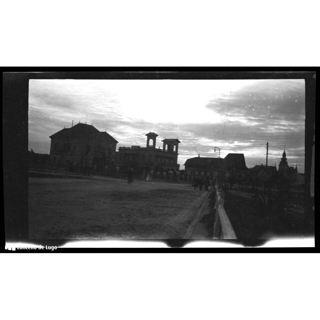
[{"label": "pale wooden railing receding along the narrow footpath", "polygon": [[231,222],[224,210],[224,191],[216,185],[216,218],[213,226],[213,239],[237,239]]}]

